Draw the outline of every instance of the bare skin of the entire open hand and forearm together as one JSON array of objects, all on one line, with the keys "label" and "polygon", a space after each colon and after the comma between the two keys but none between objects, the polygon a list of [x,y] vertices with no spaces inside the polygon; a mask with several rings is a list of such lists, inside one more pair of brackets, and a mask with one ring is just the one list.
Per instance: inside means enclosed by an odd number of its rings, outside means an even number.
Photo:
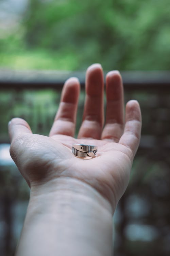
[{"label": "bare skin of the entire open hand and forearm together", "polygon": [[[104,117],[103,70],[100,64],[91,65],[82,125],[74,138],[79,93],[79,81],[71,77],[49,137],[32,134],[20,118],[8,125],[11,156],[31,188],[17,256],[112,255],[112,216],[139,145],[140,107],[129,101],[124,118],[122,78],[110,71]],[[97,157],[76,158],[72,144],[97,145]]]}]

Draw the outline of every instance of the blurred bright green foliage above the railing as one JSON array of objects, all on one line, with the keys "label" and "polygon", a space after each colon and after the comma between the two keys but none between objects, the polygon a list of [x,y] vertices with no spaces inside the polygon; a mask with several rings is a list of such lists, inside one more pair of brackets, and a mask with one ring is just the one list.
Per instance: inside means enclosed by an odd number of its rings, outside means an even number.
[{"label": "blurred bright green foliage above the railing", "polygon": [[1,66],[169,70],[169,25],[169,0],[31,0],[17,33],[1,40]]}]

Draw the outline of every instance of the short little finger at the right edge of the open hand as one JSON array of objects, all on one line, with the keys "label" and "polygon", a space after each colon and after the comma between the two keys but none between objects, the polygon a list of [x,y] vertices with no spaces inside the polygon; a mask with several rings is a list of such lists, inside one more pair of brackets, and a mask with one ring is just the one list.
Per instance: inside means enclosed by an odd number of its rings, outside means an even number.
[{"label": "short little finger at the right edge of the open hand", "polygon": [[132,151],[132,157],[135,156],[141,133],[141,112],[139,103],[136,100],[130,100],[126,104],[126,120],[120,144],[128,147]]}]

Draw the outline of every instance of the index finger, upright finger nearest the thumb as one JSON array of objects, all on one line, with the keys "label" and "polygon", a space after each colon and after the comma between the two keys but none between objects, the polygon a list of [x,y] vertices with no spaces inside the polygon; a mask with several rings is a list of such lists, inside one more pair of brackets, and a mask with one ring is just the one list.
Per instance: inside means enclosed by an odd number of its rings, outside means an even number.
[{"label": "index finger, upright finger nearest the thumb", "polygon": [[55,134],[74,136],[79,93],[79,80],[76,77],[71,77],[64,84],[50,136]]}]

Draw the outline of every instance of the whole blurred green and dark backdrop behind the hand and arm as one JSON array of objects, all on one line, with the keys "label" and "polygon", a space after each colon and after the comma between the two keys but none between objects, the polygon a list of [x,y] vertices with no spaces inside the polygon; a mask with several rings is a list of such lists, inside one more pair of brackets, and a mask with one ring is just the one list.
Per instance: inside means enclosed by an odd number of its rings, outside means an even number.
[{"label": "whole blurred green and dark backdrop behind the hand and arm", "polygon": [[9,155],[7,123],[48,135],[61,88],[85,70],[117,69],[137,99],[142,137],[115,222],[115,256],[170,255],[169,0],[0,0],[0,255],[14,255],[29,188]]}]

